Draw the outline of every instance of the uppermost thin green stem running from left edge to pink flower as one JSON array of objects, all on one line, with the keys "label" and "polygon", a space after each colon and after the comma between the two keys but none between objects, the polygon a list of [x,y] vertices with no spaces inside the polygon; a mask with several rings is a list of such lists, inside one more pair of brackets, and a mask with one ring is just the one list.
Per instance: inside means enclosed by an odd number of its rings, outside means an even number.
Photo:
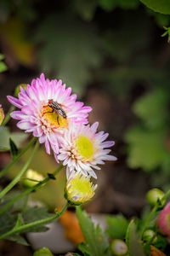
[{"label": "uppermost thin green stem running from left edge to pink flower", "polygon": [[14,164],[20,159],[20,157],[26,153],[26,151],[31,147],[31,145],[36,141],[36,137],[32,137],[31,141],[29,143],[27,143],[26,147],[23,148],[19,154],[17,154],[17,156],[14,158],[14,160],[12,160],[8,166],[6,166],[1,172],[0,172],[0,178],[3,177],[3,175],[5,175],[8,170],[10,169],[10,167],[14,166]]}]

